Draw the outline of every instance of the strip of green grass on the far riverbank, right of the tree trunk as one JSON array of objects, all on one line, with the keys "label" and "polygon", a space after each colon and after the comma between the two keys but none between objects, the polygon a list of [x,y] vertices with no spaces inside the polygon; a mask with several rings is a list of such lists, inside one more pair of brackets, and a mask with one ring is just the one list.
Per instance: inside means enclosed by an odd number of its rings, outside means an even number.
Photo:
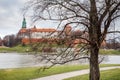
[{"label": "strip of green grass on the far riverbank, right of the tree trunk", "polygon": [[103,54],[103,55],[120,55],[120,50],[100,49],[100,54]]}]

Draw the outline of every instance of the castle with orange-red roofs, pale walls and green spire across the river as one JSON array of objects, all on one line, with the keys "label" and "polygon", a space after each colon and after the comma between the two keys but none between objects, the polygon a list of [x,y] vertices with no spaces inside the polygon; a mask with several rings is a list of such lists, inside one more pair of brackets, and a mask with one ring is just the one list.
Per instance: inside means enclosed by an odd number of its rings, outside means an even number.
[{"label": "castle with orange-red roofs, pale walls and green spire across the river", "polygon": [[[67,25],[64,27],[64,30],[58,31],[54,28],[37,28],[36,26],[32,28],[26,27],[26,19],[23,18],[22,22],[22,28],[19,30],[17,37],[21,39],[22,44],[29,44],[29,43],[36,43],[36,42],[42,42],[43,40],[52,41],[59,40],[58,36],[61,36],[61,38],[73,38],[72,40],[68,41],[67,43],[73,43],[80,44],[85,43],[87,44],[87,41],[84,39],[81,39],[79,37],[83,37],[88,39],[88,33],[83,32],[80,30],[72,31],[72,27],[70,25]],[[102,46],[105,46],[106,42],[103,41]]]}]

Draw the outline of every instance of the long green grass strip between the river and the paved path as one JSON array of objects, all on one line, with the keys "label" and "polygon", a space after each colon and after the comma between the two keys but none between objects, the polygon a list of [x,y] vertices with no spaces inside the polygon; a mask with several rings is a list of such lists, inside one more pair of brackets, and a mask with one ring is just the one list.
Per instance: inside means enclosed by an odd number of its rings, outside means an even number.
[{"label": "long green grass strip between the river and the paved path", "polygon": [[[120,64],[107,64],[106,66],[120,66]],[[88,65],[64,65],[55,66],[45,71],[40,71],[36,68],[17,68],[17,69],[1,69],[0,80],[30,80],[38,77],[49,76],[53,74],[65,73],[88,68]],[[84,79],[83,79],[84,80]]]}]

